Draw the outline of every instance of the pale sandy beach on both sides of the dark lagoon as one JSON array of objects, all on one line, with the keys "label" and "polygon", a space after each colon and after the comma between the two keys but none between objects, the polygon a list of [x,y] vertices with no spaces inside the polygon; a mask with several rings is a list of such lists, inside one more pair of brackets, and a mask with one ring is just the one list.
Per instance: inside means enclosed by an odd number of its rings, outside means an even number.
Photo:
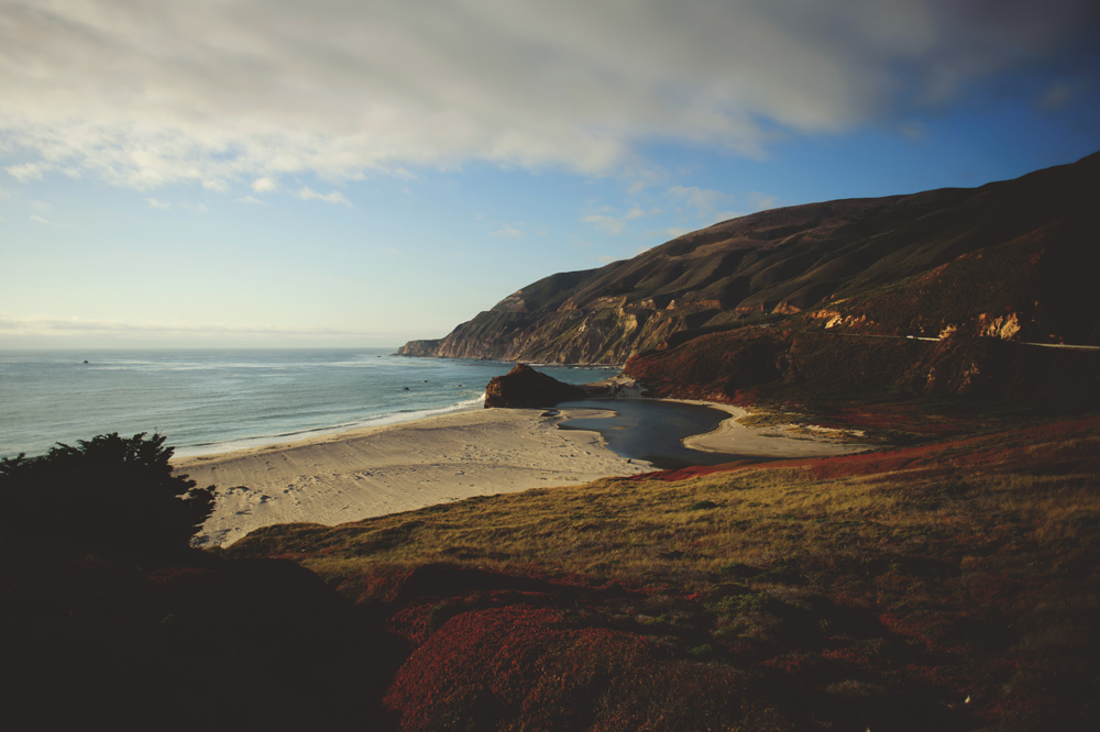
[{"label": "pale sandy beach on both sides of the dark lagoon", "polygon": [[[609,404],[610,406],[610,404]],[[732,414],[744,410],[727,408]],[[199,486],[217,487],[213,514],[198,534],[228,545],[276,523],[338,524],[472,496],[584,484],[651,470],[607,450],[595,432],[558,430],[569,410],[479,409],[301,442],[173,461]],[[726,420],[685,441],[696,450],[805,457],[859,450],[814,439],[761,436]]]}]

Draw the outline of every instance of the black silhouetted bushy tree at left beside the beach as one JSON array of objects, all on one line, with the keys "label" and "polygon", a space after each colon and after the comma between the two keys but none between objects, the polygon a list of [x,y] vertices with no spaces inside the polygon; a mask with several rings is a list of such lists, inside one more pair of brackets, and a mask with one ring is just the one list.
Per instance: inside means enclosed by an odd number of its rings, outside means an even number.
[{"label": "black silhouetted bushy tree at left beside the beach", "polygon": [[186,552],[213,486],[173,475],[164,435],[117,432],[0,461],[0,526],[150,556]]}]

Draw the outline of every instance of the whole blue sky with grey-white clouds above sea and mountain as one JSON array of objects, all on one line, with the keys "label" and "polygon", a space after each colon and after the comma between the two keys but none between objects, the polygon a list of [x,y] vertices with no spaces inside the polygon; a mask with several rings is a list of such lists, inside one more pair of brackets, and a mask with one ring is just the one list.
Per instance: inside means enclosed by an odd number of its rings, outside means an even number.
[{"label": "whole blue sky with grey-white clouds above sea and mountain", "polygon": [[1100,151],[1093,0],[0,0],[0,348],[397,346]]}]

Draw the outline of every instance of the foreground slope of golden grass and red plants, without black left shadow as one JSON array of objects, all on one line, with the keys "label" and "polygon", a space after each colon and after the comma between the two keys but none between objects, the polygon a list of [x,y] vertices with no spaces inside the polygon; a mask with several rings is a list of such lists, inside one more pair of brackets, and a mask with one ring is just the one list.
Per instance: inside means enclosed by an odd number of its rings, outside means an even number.
[{"label": "foreground slope of golden grass and red plants, without black left shadow", "polygon": [[229,554],[388,618],[403,729],[1096,729],[1098,456],[1091,417],[274,526]]}]

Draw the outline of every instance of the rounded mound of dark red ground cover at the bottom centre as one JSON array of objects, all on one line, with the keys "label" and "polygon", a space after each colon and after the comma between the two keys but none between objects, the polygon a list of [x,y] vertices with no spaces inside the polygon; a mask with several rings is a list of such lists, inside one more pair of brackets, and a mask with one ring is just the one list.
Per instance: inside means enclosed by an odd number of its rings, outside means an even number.
[{"label": "rounded mound of dark red ground cover at the bottom centre", "polygon": [[656,730],[732,727],[741,675],[676,663],[652,643],[581,628],[558,609],[509,606],[449,620],[386,695],[403,730]]}]

